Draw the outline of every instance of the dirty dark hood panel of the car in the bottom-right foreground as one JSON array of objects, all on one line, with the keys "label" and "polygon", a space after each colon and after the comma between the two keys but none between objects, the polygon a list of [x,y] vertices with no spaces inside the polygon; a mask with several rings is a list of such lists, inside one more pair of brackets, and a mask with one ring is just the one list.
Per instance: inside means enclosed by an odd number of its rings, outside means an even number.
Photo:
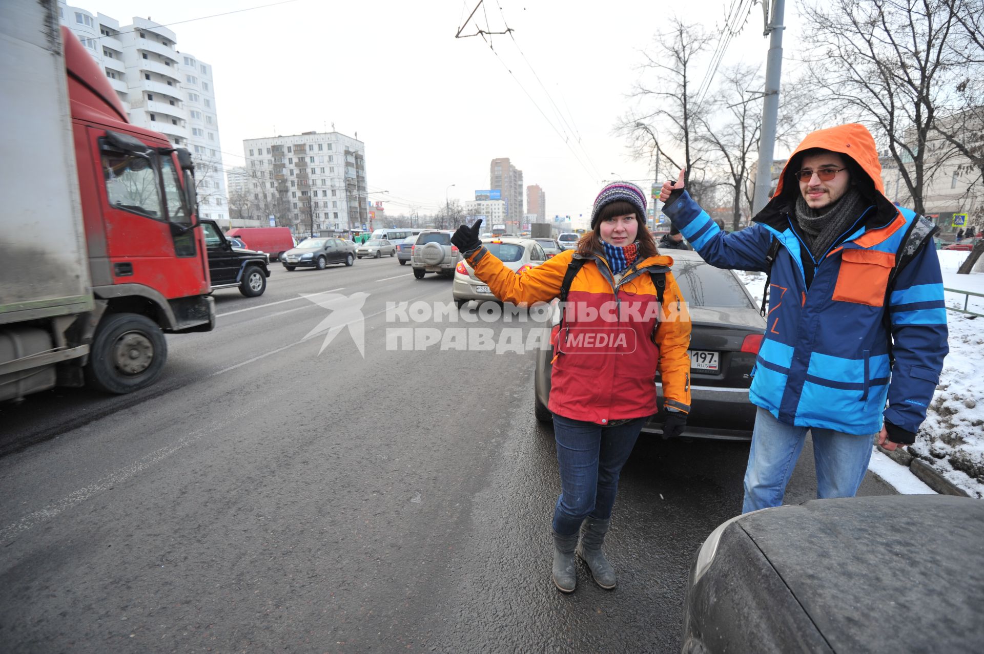
[{"label": "dirty dark hood panel of the car in the bottom-right foreground", "polygon": [[834,651],[980,651],[980,500],[815,500],[750,513],[736,524]]}]

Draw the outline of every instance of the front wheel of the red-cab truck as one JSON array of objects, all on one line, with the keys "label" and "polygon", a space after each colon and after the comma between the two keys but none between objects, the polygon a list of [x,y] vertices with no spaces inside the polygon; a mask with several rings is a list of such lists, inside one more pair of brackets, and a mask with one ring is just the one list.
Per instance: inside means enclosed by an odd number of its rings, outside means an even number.
[{"label": "front wheel of the red-cab truck", "polygon": [[86,381],[123,394],[154,384],[167,360],[167,341],[147,316],[110,314],[95,329]]}]

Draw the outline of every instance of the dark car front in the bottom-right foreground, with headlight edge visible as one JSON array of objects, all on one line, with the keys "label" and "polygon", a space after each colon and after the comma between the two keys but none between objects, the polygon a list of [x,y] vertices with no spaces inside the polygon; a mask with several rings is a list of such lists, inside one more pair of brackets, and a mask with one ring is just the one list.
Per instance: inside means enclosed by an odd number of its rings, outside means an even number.
[{"label": "dark car front in the bottom-right foreground, with headlight edge visible", "polygon": [[707,537],[685,654],[980,652],[984,503],[947,495],[811,500]]}]

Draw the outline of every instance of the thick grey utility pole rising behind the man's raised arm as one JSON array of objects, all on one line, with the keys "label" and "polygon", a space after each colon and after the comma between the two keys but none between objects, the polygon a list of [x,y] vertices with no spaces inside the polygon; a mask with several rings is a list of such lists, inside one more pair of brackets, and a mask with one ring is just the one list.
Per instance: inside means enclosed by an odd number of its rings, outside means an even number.
[{"label": "thick grey utility pole rising behind the man's raised arm", "polygon": [[752,214],[755,215],[769,203],[772,188],[772,149],[775,146],[775,123],[779,115],[779,79],[782,76],[782,17],[785,0],[771,0],[772,15],[769,16],[769,0],[762,5],[766,16],[766,31],[769,36],[769,57],[766,59],[766,89],[762,103],[762,135],[759,140],[759,168],[755,176],[755,198]]}]

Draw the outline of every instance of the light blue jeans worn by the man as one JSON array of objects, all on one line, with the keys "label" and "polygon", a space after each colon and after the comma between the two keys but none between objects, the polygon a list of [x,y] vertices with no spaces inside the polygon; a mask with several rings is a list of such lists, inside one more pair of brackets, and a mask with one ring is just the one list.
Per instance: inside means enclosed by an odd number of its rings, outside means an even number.
[{"label": "light blue jeans worn by the man", "polygon": [[817,497],[854,497],[868,471],[875,434],[858,436],[832,429],[793,427],[780,423],[760,406],[745,470],[743,513],[782,504],[786,484],[806,442],[807,430],[813,436]]}]

